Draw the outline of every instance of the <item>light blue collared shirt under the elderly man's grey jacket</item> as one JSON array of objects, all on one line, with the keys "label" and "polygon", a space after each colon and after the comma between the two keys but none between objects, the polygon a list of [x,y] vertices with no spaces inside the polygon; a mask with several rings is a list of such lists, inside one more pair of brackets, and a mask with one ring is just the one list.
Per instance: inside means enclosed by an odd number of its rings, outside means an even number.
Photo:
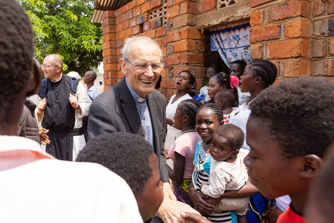
[{"label": "light blue collared shirt under the elderly man's grey jacket", "polygon": [[152,129],[152,123],[151,123],[151,116],[150,116],[150,110],[149,107],[147,107],[147,96],[146,98],[140,98],[140,96],[130,87],[129,83],[127,82],[127,79],[125,77],[126,86],[129,89],[132,97],[134,98],[136,102],[136,107],[138,110],[138,114],[140,117],[141,125],[144,126],[143,131],[146,132],[145,140],[149,142],[153,148],[153,129]]}]

